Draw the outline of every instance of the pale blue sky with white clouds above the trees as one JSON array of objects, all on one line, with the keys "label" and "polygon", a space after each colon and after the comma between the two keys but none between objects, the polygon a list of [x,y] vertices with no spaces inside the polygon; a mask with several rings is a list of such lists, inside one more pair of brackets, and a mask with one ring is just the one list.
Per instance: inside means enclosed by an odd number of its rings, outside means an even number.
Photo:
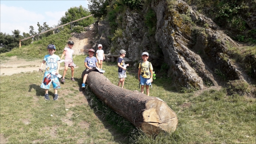
[{"label": "pale blue sky with white clouds above the trees", "polygon": [[49,26],[57,25],[71,7],[82,5],[88,9],[87,0],[0,0],[0,32],[12,35],[19,30],[29,33],[29,26],[38,32],[37,22]]}]

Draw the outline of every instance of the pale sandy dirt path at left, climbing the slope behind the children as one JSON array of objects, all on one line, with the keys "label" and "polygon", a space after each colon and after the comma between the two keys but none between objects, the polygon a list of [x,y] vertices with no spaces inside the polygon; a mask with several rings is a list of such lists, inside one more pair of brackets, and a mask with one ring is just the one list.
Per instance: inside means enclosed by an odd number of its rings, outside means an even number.
[{"label": "pale sandy dirt path at left, climbing the slope behind the children", "polygon": [[[74,41],[73,55],[84,54],[85,52],[88,52],[87,49],[92,48],[92,41],[95,36],[95,32],[93,31],[94,27],[93,25],[90,25],[85,29],[86,32],[81,34],[72,33],[72,37],[69,38],[69,40]],[[12,75],[20,72],[38,71],[41,62],[42,60],[26,61],[18,59],[16,56],[11,57],[9,60],[0,60],[0,75]],[[44,69],[45,65],[43,66],[43,70]],[[60,69],[63,69],[63,64],[61,64]]]}]

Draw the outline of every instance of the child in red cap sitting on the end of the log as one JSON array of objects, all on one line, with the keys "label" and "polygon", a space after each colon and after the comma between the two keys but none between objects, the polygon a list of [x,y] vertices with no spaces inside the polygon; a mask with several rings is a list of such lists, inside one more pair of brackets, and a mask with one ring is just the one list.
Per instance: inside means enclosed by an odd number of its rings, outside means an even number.
[{"label": "child in red cap sitting on the end of the log", "polygon": [[85,76],[83,78],[82,87],[85,87],[85,82],[86,82],[88,73],[92,72],[92,71],[97,71],[98,72],[96,67],[99,68],[98,67],[98,61],[97,61],[96,57],[93,56],[94,53],[95,53],[95,50],[94,49],[89,49],[88,53],[89,53],[89,56],[85,58],[86,72],[85,72]]}]

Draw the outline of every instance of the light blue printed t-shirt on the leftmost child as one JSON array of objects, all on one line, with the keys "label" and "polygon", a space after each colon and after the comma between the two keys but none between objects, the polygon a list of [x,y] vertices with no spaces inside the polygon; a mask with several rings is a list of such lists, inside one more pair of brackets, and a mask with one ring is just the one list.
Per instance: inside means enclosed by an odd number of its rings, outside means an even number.
[{"label": "light blue printed t-shirt on the leftmost child", "polygon": [[46,55],[44,57],[44,60],[46,61],[46,72],[56,72],[58,68],[57,61],[61,60],[59,56],[53,54],[53,55]]}]

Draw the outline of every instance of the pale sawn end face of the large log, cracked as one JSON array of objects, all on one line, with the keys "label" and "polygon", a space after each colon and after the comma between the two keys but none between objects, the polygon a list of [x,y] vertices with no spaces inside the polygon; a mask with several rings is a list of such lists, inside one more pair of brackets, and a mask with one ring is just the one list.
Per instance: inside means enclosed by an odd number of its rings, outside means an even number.
[{"label": "pale sawn end face of the large log, cracked", "polygon": [[148,101],[142,115],[141,129],[149,135],[174,132],[178,125],[176,113],[161,100]]}]

